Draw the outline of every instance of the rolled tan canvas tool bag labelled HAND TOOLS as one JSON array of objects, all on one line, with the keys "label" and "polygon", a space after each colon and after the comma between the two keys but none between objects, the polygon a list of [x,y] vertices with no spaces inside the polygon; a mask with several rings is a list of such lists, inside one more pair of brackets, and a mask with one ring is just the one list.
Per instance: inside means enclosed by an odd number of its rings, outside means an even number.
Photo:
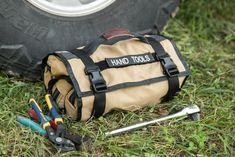
[{"label": "rolled tan canvas tool bag labelled HAND TOOLS", "polygon": [[44,65],[48,92],[69,117],[82,121],[172,99],[189,76],[172,41],[124,29],[83,48],[55,52]]}]

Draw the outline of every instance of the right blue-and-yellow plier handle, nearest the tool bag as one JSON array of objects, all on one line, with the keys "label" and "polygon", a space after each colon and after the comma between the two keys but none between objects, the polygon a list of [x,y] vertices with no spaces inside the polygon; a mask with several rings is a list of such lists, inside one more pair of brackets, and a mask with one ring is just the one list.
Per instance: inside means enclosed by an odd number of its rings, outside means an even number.
[{"label": "right blue-and-yellow plier handle, nearest the tool bag", "polygon": [[50,94],[47,94],[45,96],[45,99],[46,99],[46,102],[47,102],[47,106],[50,110],[51,116],[55,120],[55,123],[56,124],[63,123],[63,120],[62,120],[61,116],[56,111],[55,102],[54,102],[52,96]]}]

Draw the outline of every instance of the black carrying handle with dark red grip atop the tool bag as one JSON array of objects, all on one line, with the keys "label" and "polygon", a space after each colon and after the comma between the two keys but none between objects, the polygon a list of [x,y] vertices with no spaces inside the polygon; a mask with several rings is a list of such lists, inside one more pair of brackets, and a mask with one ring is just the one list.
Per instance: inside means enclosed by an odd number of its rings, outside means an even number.
[{"label": "black carrying handle with dark red grip atop the tool bag", "polygon": [[93,40],[90,44],[83,48],[83,51],[87,55],[91,55],[101,44],[104,44],[105,42],[114,41],[114,43],[116,43],[120,40],[132,38],[138,38],[140,41],[148,43],[148,40],[141,34],[132,33],[128,29],[115,28],[103,33],[99,38]]}]

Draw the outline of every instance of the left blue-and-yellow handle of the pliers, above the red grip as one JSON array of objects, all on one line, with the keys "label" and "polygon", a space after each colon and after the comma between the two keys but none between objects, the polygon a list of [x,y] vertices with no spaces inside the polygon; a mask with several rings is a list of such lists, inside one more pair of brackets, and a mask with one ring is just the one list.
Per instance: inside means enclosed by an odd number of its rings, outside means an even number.
[{"label": "left blue-and-yellow handle of the pliers, above the red grip", "polygon": [[46,119],[46,117],[44,116],[44,114],[42,113],[42,110],[40,106],[37,104],[37,102],[34,99],[30,99],[29,102],[32,108],[34,109],[34,111],[36,112],[43,129],[45,129],[48,126],[51,126],[48,120]]}]

